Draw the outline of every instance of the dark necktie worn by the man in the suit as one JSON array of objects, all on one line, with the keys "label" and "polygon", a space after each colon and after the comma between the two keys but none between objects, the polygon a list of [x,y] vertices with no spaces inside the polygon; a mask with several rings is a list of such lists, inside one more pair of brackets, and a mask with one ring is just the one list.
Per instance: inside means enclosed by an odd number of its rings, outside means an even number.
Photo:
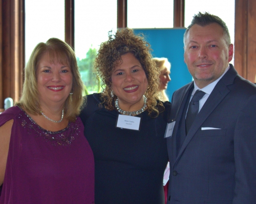
[{"label": "dark necktie worn by the man in the suit", "polygon": [[188,105],[186,116],[186,134],[188,133],[199,112],[199,100],[204,96],[204,94],[205,92],[197,90]]}]

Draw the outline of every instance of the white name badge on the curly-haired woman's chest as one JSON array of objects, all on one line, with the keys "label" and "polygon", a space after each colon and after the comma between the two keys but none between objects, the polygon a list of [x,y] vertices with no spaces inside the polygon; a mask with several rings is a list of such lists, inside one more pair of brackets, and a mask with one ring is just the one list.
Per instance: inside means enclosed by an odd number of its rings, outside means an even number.
[{"label": "white name badge on the curly-haired woman's chest", "polygon": [[129,116],[129,115],[120,115],[117,116],[116,127],[121,129],[129,130],[140,130],[140,119],[139,117]]}]

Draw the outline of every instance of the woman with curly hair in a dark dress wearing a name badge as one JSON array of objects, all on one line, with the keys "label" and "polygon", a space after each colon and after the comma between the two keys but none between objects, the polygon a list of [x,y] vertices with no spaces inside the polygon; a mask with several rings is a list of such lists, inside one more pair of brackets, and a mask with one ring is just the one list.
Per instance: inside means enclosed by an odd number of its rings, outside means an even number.
[{"label": "woman with curly hair in a dark dress wearing a name badge", "polygon": [[109,33],[95,60],[102,93],[80,115],[95,157],[95,203],[164,203],[164,139],[169,103],[161,103],[150,45],[131,29]]}]

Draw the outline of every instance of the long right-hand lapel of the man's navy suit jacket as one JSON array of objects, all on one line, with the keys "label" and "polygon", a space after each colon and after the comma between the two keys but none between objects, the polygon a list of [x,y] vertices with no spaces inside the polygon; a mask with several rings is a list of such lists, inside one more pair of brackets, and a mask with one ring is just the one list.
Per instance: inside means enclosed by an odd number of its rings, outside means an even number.
[{"label": "long right-hand lapel of the man's navy suit jacket", "polygon": [[[211,94],[209,95],[208,99],[206,100],[204,106],[202,107],[201,111],[197,115],[195,122],[190,127],[190,130],[186,136],[185,141],[183,142],[179,154],[177,156],[176,162],[182,155],[182,152],[190,142],[190,140],[195,136],[196,132],[202,126],[203,122],[208,118],[208,116],[215,110],[215,108],[221,103],[223,98],[229,93],[229,89],[227,85],[232,84],[234,78],[236,77],[237,72],[234,70],[233,66],[231,65],[227,73],[223,76],[223,78],[217,83],[214,90],[212,90]],[[180,107],[183,108],[182,106]],[[182,111],[181,111],[182,112]],[[175,145],[176,146],[176,145]],[[174,148],[176,149],[176,148]]]}]

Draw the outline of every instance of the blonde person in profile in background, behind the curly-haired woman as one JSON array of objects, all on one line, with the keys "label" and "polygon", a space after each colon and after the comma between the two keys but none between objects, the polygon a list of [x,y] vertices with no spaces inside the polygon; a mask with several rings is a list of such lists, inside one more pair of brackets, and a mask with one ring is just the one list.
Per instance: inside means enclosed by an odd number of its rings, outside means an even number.
[{"label": "blonde person in profile in background, behind the curly-haired woman", "polygon": [[167,89],[167,84],[170,81],[170,63],[167,58],[153,58],[153,62],[156,63],[156,66],[159,67],[160,75],[160,99],[162,101],[168,101],[169,98],[165,93]]}]

